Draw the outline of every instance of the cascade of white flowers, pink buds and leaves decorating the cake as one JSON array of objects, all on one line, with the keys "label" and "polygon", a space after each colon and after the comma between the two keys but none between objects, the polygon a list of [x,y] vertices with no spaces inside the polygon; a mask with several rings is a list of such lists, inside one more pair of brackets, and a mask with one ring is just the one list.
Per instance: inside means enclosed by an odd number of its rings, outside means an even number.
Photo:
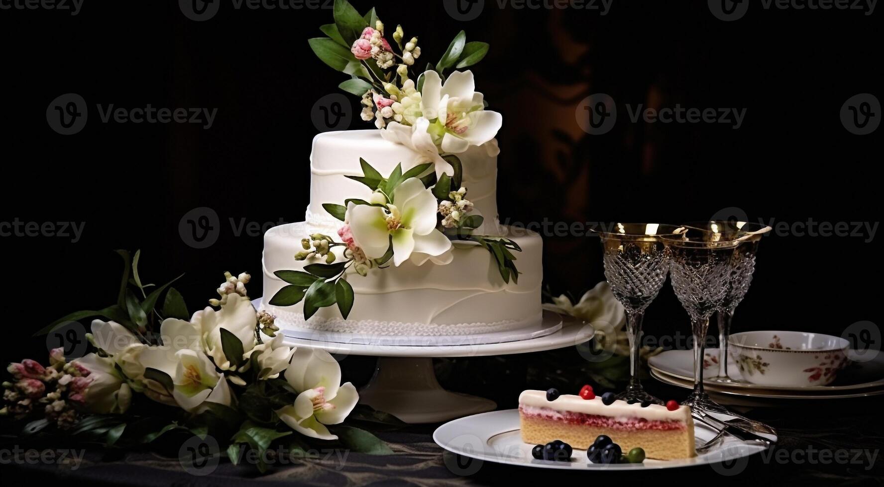
[{"label": "cascade of white flowers, pink buds and leaves decorating the cake", "polygon": [[[303,300],[305,319],[337,304],[346,319],[354,300],[353,288],[344,278],[347,269],[366,276],[370,269],[385,268],[391,260],[393,266],[407,260],[417,266],[427,260],[446,265],[453,258],[452,242],[458,241],[479,244],[491,253],[501,279],[518,283],[513,251],[522,249],[501,236],[473,235],[484,219],[470,214],[473,204],[467,199],[467,188],[461,186],[458,154],[473,146],[498,154],[494,136],[501,116],[485,109],[472,72],[445,74],[448,69],[481,61],[488,44],[467,42],[461,31],[435,65],[427,64],[418,73],[415,60],[421,57],[421,48],[417,38],[405,41],[402,26],[396,26],[392,39],[397,53],[386,41],[384,23],[377,19],[375,9],[360,15],[347,0],[335,0],[334,23],[320,30],[328,37],[310,39],[310,48],[325,64],[351,76],[339,87],[361,97],[362,119],[375,120],[385,139],[408,146],[421,155],[423,163],[404,172],[397,165],[385,177],[360,159],[362,176],[347,177],[368,186],[373,191],[370,199],[323,205],[344,222],[338,230],[340,241],[319,233],[304,238],[304,251],[295,258],[316,262],[303,271],[275,272],[287,285],[269,303],[291,306]],[[335,253],[336,248],[342,251]]]}]

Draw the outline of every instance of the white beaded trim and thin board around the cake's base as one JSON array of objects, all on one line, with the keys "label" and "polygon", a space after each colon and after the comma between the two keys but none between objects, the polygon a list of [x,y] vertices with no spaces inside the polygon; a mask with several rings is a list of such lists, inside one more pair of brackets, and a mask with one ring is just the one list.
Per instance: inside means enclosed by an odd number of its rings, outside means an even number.
[{"label": "white beaded trim and thin board around the cake's base", "polygon": [[[323,318],[314,316],[304,320],[304,314],[282,310],[276,306],[262,306],[276,316],[276,324],[282,329],[307,328],[317,332],[358,333],[366,335],[390,336],[446,336],[478,333],[495,333],[513,329],[522,321],[507,319],[493,323],[464,323],[458,325],[432,325],[426,323],[405,323],[401,321],[379,321],[375,319]],[[529,321],[529,320],[526,320]]]}]

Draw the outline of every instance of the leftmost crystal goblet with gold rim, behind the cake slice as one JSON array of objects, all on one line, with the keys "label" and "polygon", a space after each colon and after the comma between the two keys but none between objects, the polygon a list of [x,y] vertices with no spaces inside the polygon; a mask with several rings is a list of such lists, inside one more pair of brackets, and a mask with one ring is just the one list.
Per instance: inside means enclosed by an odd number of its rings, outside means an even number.
[{"label": "leftmost crystal goblet with gold rim, behind the cake slice", "polygon": [[657,297],[667,277],[666,249],[661,237],[674,238],[684,229],[666,223],[613,223],[593,230],[601,238],[608,285],[626,310],[629,386],[617,399],[663,404],[644,392],[638,378],[638,348],[644,311]]}]

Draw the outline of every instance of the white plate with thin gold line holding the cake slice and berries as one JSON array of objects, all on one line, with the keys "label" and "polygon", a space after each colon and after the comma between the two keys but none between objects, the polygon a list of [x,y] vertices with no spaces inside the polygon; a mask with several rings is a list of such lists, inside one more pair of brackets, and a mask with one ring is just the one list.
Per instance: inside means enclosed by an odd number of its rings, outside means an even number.
[{"label": "white plate with thin gold line holding the cake slice and berries", "polygon": [[[694,424],[697,446],[714,438],[716,431],[702,423]],[[519,431],[519,410],[507,409],[449,421],[433,431],[433,440],[451,453],[478,461],[507,465],[568,470],[647,470],[707,465],[748,457],[765,450],[758,443],[726,437],[709,451],[694,458],[670,461],[645,460],[644,463],[604,465],[586,459],[586,450],[574,450],[571,461],[536,460],[531,456],[533,445],[522,443]],[[773,438],[776,441],[776,438]],[[470,468],[476,468],[471,466]]]}]

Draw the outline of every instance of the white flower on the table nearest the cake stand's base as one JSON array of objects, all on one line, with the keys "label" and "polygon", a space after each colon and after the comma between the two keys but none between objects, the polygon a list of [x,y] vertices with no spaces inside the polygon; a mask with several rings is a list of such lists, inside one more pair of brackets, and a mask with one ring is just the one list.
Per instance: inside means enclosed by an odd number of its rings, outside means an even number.
[{"label": "white flower on the table nearest the cake stand's base", "polygon": [[294,431],[320,439],[337,439],[326,424],[347,418],[359,401],[353,384],[340,385],[340,366],[321,349],[297,348],[286,369],[286,381],[298,393],[292,406],[276,411]]}]

